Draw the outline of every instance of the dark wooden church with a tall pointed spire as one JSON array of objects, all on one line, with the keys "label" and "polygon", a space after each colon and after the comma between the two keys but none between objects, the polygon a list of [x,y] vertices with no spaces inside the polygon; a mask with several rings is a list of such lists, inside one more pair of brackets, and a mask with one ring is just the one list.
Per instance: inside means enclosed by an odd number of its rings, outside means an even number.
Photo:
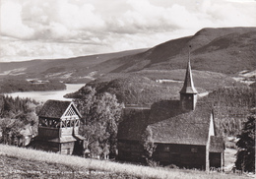
[{"label": "dark wooden church with a tall pointed spire", "polygon": [[211,105],[197,100],[190,60],[179,93],[179,100],[163,100],[150,109],[129,108],[125,112],[117,135],[120,160],[145,162],[143,136],[150,131],[157,146],[152,158],[162,165],[206,170],[224,166],[224,139],[216,134]]}]

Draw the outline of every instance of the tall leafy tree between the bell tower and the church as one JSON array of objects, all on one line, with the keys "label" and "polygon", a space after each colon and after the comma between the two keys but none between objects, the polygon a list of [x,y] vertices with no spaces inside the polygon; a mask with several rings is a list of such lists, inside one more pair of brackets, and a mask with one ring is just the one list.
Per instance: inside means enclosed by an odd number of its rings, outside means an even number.
[{"label": "tall leafy tree between the bell tower and the church", "polygon": [[80,133],[87,139],[92,155],[114,157],[123,104],[114,94],[96,93],[92,87],[80,90],[79,96],[75,103],[83,116]]}]

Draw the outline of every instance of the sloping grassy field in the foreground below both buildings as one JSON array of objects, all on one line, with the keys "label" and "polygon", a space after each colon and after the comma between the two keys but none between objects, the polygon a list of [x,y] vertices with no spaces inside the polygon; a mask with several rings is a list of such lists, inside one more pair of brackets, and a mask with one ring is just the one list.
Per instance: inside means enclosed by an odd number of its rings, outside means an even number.
[{"label": "sloping grassy field in the foreground below both buildings", "polygon": [[228,179],[246,176],[142,165],[62,155],[0,145],[0,178],[182,178]]}]

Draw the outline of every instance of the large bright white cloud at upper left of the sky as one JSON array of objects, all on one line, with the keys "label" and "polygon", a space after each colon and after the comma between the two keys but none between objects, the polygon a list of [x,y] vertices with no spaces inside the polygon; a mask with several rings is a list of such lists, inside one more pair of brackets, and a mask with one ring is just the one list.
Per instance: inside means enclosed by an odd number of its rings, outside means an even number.
[{"label": "large bright white cloud at upper left of the sky", "polygon": [[66,40],[79,36],[82,30],[98,31],[104,27],[104,21],[95,14],[92,4],[74,2],[28,0],[24,4],[23,18],[35,31],[33,38]]}]

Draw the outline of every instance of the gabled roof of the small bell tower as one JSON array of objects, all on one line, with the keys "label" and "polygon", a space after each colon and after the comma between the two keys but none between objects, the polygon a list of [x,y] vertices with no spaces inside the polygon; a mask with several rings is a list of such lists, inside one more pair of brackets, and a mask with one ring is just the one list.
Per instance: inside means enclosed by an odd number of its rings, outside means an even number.
[{"label": "gabled roof of the small bell tower", "polygon": [[[47,100],[39,111],[38,116],[60,118],[71,104],[73,104],[71,101]],[[80,113],[77,111],[75,106],[74,108],[80,116]]]}]

